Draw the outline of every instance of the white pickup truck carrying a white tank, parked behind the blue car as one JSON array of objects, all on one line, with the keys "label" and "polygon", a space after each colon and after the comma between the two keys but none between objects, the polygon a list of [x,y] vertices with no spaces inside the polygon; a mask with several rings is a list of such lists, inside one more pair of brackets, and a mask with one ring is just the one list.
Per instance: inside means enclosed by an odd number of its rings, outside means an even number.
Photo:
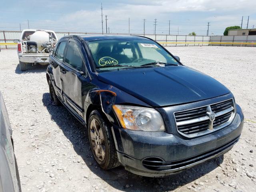
[{"label": "white pickup truck carrying a white tank, parked behind the blue car", "polygon": [[25,71],[29,63],[48,65],[49,56],[52,53],[58,38],[54,31],[50,30],[23,30],[18,43],[17,52],[20,62],[20,70]]}]

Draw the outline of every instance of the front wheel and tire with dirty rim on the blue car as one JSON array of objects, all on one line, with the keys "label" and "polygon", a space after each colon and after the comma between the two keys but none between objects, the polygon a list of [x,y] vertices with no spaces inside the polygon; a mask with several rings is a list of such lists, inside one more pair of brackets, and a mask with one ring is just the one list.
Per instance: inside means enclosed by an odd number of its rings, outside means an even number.
[{"label": "front wheel and tire with dirty rim on the blue car", "polygon": [[102,169],[107,170],[120,165],[110,123],[98,110],[93,110],[90,114],[88,137],[94,158]]}]

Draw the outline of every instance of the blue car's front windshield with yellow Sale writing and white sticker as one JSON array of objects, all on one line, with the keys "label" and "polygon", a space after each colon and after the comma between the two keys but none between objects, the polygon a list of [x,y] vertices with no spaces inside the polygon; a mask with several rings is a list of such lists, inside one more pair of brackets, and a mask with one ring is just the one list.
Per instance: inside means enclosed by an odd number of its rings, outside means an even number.
[{"label": "blue car's front windshield with yellow Sale writing and white sticker", "polygon": [[140,38],[116,38],[88,42],[97,72],[140,67],[178,65],[156,42]]}]

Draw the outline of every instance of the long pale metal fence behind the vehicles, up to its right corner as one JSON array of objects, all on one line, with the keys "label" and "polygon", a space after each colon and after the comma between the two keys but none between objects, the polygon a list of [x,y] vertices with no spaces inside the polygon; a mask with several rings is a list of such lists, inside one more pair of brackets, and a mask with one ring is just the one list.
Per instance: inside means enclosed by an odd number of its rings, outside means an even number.
[{"label": "long pale metal fence behind the vehicles, up to its right corner", "polygon": [[[57,37],[60,39],[66,35],[86,35],[86,34],[101,34],[101,33],[80,33],[80,32],[56,32]],[[114,33],[112,33],[114,34]],[[116,33],[115,33],[116,34]],[[20,31],[0,31],[0,43],[12,43],[14,39],[20,39]],[[158,42],[210,42],[210,36],[188,36],[188,35],[163,35],[163,34],[120,34],[120,35],[139,35],[154,39]],[[187,44],[164,44],[164,46],[186,46]],[[201,44],[202,45],[202,44]],[[203,44],[208,46],[208,44]],[[16,48],[16,45],[1,45],[0,48]]]}]

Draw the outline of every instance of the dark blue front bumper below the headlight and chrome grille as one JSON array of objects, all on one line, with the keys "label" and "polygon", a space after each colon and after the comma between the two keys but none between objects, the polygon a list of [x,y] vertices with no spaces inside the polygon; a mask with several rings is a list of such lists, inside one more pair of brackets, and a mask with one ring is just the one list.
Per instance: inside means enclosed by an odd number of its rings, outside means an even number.
[{"label": "dark blue front bumper below the headlight and chrome grille", "polygon": [[126,170],[142,176],[164,177],[228,152],[238,142],[243,124],[244,116],[239,107],[232,124],[198,138],[115,126],[112,133],[118,159]]}]

